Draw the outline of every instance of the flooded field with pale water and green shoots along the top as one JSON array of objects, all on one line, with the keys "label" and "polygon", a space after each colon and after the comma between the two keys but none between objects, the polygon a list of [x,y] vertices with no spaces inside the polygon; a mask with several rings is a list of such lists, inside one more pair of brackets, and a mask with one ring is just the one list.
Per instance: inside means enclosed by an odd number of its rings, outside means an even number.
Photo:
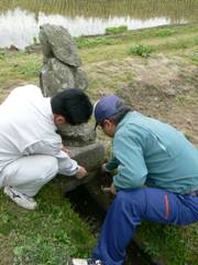
[{"label": "flooded field with pale water and green shoots along the top", "polygon": [[1,0],[0,46],[32,44],[43,23],[63,25],[78,36],[102,34],[108,26],[189,22],[198,22],[198,0]]}]

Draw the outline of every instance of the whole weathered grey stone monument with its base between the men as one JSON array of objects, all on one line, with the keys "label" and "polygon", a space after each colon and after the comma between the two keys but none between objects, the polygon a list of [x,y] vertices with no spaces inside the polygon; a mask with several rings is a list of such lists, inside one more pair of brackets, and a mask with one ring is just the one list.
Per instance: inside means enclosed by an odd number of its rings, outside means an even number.
[{"label": "whole weathered grey stone monument with its base between the men", "polygon": [[[40,84],[45,96],[53,96],[67,88],[88,87],[87,75],[80,70],[81,60],[73,38],[66,29],[44,24],[40,28],[40,41],[44,55],[40,74]],[[105,146],[96,139],[96,131],[89,124],[67,126],[59,129],[63,144],[70,150],[70,157],[86,167],[88,177],[77,180],[66,179],[66,191],[90,181],[98,173],[105,160]]]}]

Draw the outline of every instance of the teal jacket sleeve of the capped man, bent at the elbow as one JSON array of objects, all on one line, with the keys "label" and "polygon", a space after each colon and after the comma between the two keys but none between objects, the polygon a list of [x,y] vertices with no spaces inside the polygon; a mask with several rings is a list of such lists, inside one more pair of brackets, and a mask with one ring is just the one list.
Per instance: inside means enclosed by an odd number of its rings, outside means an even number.
[{"label": "teal jacket sleeve of the capped man, bent at the elbow", "polygon": [[119,167],[113,183],[118,190],[141,188],[145,183],[147,168],[139,138],[140,136],[129,131],[122,131],[114,138],[113,152]]}]

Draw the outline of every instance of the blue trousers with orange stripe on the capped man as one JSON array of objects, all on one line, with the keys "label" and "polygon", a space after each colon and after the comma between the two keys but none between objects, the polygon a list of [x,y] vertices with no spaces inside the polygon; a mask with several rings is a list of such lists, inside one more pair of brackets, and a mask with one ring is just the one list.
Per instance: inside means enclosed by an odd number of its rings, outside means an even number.
[{"label": "blue trousers with orange stripe on the capped man", "polygon": [[105,265],[121,265],[125,248],[141,220],[187,225],[198,221],[198,197],[142,188],[118,192],[103,222],[94,257]]}]

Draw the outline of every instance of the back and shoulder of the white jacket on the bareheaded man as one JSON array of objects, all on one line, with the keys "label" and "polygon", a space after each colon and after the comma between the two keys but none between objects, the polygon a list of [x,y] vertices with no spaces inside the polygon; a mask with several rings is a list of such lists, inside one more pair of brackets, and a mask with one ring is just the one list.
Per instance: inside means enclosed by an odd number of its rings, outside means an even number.
[{"label": "back and shoulder of the white jacket on the bareheaded man", "polygon": [[0,106],[0,171],[29,155],[28,148],[43,138],[58,138],[55,129],[50,98],[44,98],[38,87],[26,85],[13,89]]}]

